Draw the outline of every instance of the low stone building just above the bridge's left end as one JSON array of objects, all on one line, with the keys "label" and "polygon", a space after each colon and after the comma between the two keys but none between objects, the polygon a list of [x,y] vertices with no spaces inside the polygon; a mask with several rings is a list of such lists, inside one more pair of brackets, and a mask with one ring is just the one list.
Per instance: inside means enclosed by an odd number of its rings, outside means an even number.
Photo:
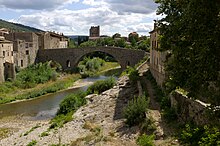
[{"label": "low stone building just above the bridge's left end", "polygon": [[68,38],[55,32],[42,32],[39,36],[39,49],[58,49],[68,47]]}]

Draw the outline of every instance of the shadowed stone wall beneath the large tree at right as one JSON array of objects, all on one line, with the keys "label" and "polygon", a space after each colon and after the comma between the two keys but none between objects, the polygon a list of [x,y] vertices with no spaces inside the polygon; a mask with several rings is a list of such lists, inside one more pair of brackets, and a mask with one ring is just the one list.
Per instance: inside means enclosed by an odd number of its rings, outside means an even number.
[{"label": "shadowed stone wall beneath the large tree at right", "polygon": [[193,121],[198,125],[210,122],[210,113],[208,114],[208,106],[210,104],[190,99],[177,91],[170,97],[171,106],[176,110],[180,122]]}]

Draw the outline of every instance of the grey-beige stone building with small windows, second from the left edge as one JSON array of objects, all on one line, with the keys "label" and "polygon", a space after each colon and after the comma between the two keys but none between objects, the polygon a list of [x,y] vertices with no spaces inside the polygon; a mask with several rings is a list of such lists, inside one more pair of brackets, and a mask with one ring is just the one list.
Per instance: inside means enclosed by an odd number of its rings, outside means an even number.
[{"label": "grey-beige stone building with small windows, second from the left edge", "polygon": [[12,32],[5,37],[13,42],[16,68],[26,68],[35,63],[39,49],[38,35],[33,32]]}]

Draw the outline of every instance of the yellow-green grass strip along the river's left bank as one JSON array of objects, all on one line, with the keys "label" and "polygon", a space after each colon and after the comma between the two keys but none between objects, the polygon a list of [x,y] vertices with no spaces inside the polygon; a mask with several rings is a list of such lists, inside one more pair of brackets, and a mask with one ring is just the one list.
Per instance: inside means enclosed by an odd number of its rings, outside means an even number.
[{"label": "yellow-green grass strip along the river's left bank", "polygon": [[[38,84],[36,87],[30,89],[19,89],[14,87],[13,91],[10,91],[9,93],[3,93],[0,91],[0,104],[9,103],[16,100],[35,98],[48,93],[54,93],[68,88],[79,78],[79,74],[65,75],[63,78],[60,78],[57,81],[49,81],[45,84]],[[0,87],[1,86],[2,85],[0,85]]]}]

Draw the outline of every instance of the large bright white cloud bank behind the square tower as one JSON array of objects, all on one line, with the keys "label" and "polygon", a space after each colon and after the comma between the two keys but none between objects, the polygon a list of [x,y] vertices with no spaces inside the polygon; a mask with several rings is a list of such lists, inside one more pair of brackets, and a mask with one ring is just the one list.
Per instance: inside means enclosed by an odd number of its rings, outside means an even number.
[{"label": "large bright white cloud bank behind the square tower", "polygon": [[91,26],[100,25],[102,35],[119,32],[127,36],[132,31],[148,35],[147,31],[151,30],[153,24],[143,23],[142,20],[146,17],[147,15],[138,13],[120,15],[108,7],[97,7],[75,11],[42,11],[22,15],[14,21],[43,30],[63,32],[66,35],[88,35]]}]

